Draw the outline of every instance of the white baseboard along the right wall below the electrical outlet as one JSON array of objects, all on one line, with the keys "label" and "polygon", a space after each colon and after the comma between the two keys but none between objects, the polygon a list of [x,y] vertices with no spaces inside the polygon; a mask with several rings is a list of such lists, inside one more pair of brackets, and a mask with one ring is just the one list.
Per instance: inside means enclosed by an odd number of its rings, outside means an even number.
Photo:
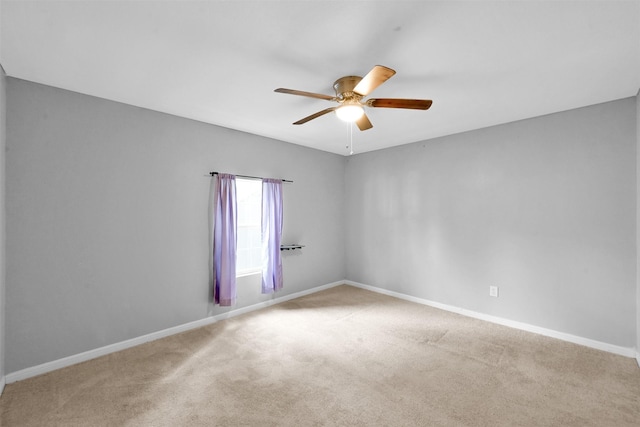
[{"label": "white baseboard along the right wall below the electrical outlet", "polygon": [[484,313],[478,313],[475,311],[467,310],[464,308],[455,307],[452,305],[442,304],[435,301],[430,301],[422,298],[413,297],[410,295],[401,294],[399,292],[389,291],[387,289],[377,288],[375,286],[369,286],[358,282],[353,282],[351,280],[344,281],[347,285],[355,286],[357,288],[366,289],[368,291],[377,292],[384,295],[389,295],[395,298],[400,298],[406,301],[415,302],[418,304],[428,305],[430,307],[439,308],[441,310],[450,311],[457,314],[462,314],[463,316],[473,317],[475,319],[484,320],[491,323],[497,323],[499,325],[508,326],[514,329],[520,329],[527,332],[533,332],[538,335],[544,335],[551,338],[557,338],[562,341],[571,342],[574,344],[583,345],[585,347],[595,348],[597,350],[603,350],[609,353],[617,354],[620,356],[626,357],[635,357],[638,361],[638,365],[640,365],[640,353],[636,352],[633,348],[621,347],[613,344],[604,343],[601,341],[595,341],[589,338],[579,337],[576,335],[567,334],[564,332],[554,331],[552,329],[541,328],[538,326],[530,325],[528,323],[516,322],[509,319],[504,319],[497,316],[491,316]]}]

